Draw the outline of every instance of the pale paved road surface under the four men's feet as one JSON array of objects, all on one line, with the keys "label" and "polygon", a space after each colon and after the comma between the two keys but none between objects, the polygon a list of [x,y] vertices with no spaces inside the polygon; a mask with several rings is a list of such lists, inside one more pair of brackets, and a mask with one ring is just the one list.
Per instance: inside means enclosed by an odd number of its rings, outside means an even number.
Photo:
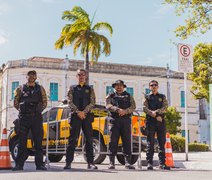
[{"label": "pale paved road surface under the four men's feet", "polygon": [[[143,156],[144,157],[144,156]],[[157,157],[155,156],[155,159]],[[86,170],[87,165],[81,157],[76,157],[72,164],[72,170],[64,171],[64,159],[59,163],[50,163],[50,169],[46,172],[36,171],[33,158],[29,158],[25,164],[25,170],[22,172],[12,172],[10,170],[1,170],[1,180],[42,180],[42,179],[73,179],[73,180],[211,180],[212,179],[212,152],[207,153],[191,153],[189,161],[184,161],[185,154],[174,154],[175,166],[171,171],[159,170],[157,167],[154,171],[147,171],[144,166],[142,169],[136,167],[135,171],[125,170],[120,164],[116,165],[116,170],[107,169],[108,160],[102,165],[98,165],[96,171]]]}]

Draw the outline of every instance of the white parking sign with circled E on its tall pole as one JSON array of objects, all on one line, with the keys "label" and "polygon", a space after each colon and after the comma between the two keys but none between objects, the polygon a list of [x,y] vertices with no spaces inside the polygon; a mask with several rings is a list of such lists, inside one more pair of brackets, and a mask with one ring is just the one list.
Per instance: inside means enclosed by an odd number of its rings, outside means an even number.
[{"label": "white parking sign with circled E on its tall pole", "polygon": [[188,110],[187,110],[187,73],[193,72],[193,48],[190,45],[178,44],[178,71],[184,73],[185,92],[185,153],[188,161]]}]

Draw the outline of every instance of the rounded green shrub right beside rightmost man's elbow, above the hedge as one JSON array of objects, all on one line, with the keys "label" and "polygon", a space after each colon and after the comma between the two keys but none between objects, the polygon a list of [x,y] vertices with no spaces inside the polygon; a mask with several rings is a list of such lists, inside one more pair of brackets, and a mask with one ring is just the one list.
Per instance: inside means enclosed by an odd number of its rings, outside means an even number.
[{"label": "rounded green shrub right beside rightmost man's elbow, above the hedge", "polygon": [[181,114],[177,111],[176,107],[168,107],[165,114],[166,129],[170,134],[177,134],[181,132],[179,127],[181,126]]}]

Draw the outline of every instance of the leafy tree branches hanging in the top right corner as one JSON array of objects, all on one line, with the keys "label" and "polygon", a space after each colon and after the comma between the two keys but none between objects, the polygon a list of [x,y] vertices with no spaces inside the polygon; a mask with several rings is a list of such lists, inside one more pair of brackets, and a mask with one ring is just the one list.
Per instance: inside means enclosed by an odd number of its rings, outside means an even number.
[{"label": "leafy tree branches hanging in the top right corner", "polygon": [[206,33],[212,24],[212,1],[211,0],[165,0],[165,4],[173,4],[178,16],[188,14],[185,25],[179,25],[175,34],[181,39],[200,32]]}]

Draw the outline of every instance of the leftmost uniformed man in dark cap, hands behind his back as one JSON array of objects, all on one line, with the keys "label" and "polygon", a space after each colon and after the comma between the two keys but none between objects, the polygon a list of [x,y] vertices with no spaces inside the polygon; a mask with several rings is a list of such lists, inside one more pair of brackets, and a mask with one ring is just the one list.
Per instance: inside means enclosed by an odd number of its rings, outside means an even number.
[{"label": "leftmost uniformed man in dark cap, hands behind his back", "polygon": [[31,130],[34,148],[36,170],[47,170],[43,163],[43,119],[42,111],[47,106],[45,89],[37,84],[36,71],[27,73],[27,83],[19,86],[14,93],[14,107],[19,111],[19,144],[18,155],[15,160],[13,171],[23,170],[24,162],[28,157],[27,135]]}]

